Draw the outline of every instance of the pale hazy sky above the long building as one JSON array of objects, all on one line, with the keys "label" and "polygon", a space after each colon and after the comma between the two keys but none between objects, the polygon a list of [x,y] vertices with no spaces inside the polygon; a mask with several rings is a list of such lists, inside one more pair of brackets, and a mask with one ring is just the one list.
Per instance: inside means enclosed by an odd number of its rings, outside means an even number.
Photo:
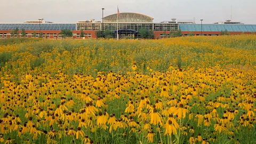
[{"label": "pale hazy sky above the long building", "polygon": [[153,22],[193,20],[213,23],[231,19],[256,24],[256,0],[0,0],[0,23],[26,20],[75,23],[79,20],[100,20],[120,12],[141,13],[153,17]]}]

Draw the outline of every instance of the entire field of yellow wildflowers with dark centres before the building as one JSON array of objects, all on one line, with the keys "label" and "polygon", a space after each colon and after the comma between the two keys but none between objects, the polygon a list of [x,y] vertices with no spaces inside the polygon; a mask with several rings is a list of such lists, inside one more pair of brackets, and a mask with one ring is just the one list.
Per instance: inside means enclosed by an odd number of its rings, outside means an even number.
[{"label": "entire field of yellow wildflowers with dark centres before the building", "polygon": [[0,39],[0,143],[256,143],[256,35]]}]

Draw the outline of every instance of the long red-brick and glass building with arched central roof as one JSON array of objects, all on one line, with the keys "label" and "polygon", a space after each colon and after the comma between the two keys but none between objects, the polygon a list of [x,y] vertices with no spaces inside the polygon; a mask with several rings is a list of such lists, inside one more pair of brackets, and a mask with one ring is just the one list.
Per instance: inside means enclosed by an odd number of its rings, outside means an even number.
[{"label": "long red-brick and glass building with arched central roof", "polygon": [[[21,37],[21,30],[26,31],[25,37],[39,37],[39,32],[43,34],[43,38],[61,38],[59,33],[62,29],[69,29],[73,32],[73,38],[97,38],[96,31],[110,30],[113,38],[134,37],[141,38],[140,29],[146,29],[147,33],[153,33],[154,38],[164,38],[169,35],[170,31],[181,30],[183,36],[188,36],[191,31],[194,35],[218,36],[221,31],[228,30],[231,35],[251,34],[256,31],[256,25],[245,25],[241,22],[218,22],[214,24],[195,24],[192,20],[179,21],[171,19],[171,21],[153,22],[154,18],[139,13],[119,13],[111,14],[103,18],[103,21],[84,20],[76,23],[54,23],[49,21],[25,21],[24,23],[0,23],[0,38]],[[18,35],[12,35],[12,30],[19,29]],[[202,29],[201,29],[202,28]],[[81,30],[84,37],[81,37]]]}]

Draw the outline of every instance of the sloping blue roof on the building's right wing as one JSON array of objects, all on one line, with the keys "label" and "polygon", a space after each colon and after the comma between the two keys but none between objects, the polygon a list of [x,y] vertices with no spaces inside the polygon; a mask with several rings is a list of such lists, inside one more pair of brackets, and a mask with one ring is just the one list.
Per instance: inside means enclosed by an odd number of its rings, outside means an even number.
[{"label": "sloping blue roof on the building's right wing", "polygon": [[[201,24],[180,24],[181,31],[201,31]],[[256,31],[256,25],[203,24],[202,31]]]}]

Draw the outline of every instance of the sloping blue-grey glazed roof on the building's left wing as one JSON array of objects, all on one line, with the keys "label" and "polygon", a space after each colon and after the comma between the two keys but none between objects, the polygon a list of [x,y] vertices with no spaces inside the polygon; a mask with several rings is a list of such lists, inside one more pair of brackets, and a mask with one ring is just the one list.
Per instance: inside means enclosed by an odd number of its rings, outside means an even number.
[{"label": "sloping blue-grey glazed roof on the building's left wing", "polygon": [[[0,23],[0,30],[39,30],[39,23]],[[41,30],[76,30],[76,23],[41,23]]]}]

